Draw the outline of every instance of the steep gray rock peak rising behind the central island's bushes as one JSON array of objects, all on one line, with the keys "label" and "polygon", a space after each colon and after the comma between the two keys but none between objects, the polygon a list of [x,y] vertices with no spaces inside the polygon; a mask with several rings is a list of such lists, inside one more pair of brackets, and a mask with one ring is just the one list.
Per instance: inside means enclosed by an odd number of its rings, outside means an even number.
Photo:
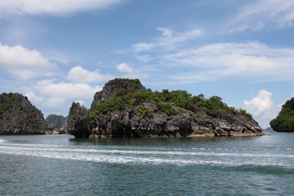
[{"label": "steep gray rock peak rising behind the central island's bushes", "polygon": [[111,95],[115,93],[117,89],[127,89],[128,92],[135,92],[136,90],[146,90],[146,88],[140,83],[139,79],[122,79],[115,78],[107,82],[102,91],[96,92],[91,107],[100,103],[101,100],[109,99]]}]

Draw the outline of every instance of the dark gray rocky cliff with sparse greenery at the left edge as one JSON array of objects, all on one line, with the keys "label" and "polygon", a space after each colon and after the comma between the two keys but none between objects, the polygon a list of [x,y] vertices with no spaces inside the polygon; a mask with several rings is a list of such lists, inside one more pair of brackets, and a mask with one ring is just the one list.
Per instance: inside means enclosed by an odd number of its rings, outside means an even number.
[{"label": "dark gray rocky cliff with sparse greenery at the left edge", "polygon": [[0,134],[45,134],[47,121],[28,98],[19,93],[0,95]]}]

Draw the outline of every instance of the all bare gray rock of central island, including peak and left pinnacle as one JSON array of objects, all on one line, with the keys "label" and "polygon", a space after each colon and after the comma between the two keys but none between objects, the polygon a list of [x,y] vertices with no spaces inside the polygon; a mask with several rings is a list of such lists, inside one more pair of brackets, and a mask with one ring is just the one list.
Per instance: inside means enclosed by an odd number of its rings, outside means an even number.
[{"label": "all bare gray rock of central island, including peak and left pinnacle", "polygon": [[[125,80],[125,81],[124,81]],[[105,84],[102,91],[97,92],[92,107],[101,100],[108,99],[117,89],[128,92],[145,90],[137,81],[115,79]],[[132,100],[134,107],[139,100]],[[168,116],[160,112],[154,101],[145,101],[141,106],[153,111],[153,118],[141,118],[136,108],[122,107],[121,110],[100,114],[95,123],[90,123],[89,110],[73,103],[69,113],[67,131],[76,138],[144,138],[144,137],[194,137],[194,136],[245,136],[264,135],[262,128],[254,119],[249,119],[238,112],[224,114],[214,109],[210,114],[201,112],[201,107],[188,111],[169,103],[181,114]]]}]

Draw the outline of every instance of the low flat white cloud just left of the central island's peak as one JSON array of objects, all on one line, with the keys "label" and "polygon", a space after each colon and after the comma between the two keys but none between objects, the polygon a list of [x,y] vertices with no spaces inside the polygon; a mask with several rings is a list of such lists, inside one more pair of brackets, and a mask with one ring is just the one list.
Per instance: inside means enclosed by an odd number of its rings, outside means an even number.
[{"label": "low flat white cloud just left of the central island's peak", "polygon": [[39,81],[34,87],[40,95],[57,98],[93,98],[93,95],[102,90],[99,85],[94,88],[88,84],[53,83],[53,80]]}]

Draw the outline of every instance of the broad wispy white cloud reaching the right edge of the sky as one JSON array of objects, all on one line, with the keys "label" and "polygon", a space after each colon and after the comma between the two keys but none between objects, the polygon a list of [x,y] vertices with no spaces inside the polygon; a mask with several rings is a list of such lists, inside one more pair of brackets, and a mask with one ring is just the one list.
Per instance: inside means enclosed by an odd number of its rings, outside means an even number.
[{"label": "broad wispy white cloud reaching the right edge of the sky", "polygon": [[[173,79],[208,81],[227,79],[293,80],[293,48],[268,47],[266,44],[215,43],[178,50],[160,57],[161,64],[186,67]],[[212,77],[213,76],[213,77]]]}]

